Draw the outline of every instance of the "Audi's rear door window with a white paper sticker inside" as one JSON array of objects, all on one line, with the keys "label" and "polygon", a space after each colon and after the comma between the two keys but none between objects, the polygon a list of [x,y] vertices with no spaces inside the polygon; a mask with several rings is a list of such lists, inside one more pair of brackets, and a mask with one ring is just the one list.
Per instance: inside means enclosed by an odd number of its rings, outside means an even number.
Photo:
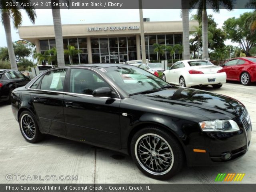
[{"label": "Audi's rear door window with a white paper sticker inside", "polygon": [[66,69],[58,69],[47,72],[42,78],[41,90],[63,91]]}]

